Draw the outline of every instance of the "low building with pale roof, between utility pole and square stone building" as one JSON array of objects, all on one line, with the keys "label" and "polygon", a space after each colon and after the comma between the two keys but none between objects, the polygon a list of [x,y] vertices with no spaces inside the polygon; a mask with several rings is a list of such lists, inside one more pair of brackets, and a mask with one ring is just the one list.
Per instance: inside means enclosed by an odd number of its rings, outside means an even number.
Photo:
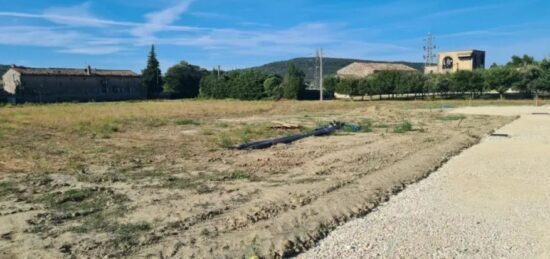
[{"label": "low building with pale roof, between utility pole and square stone building", "polygon": [[353,62],[350,65],[338,70],[336,74],[339,77],[368,77],[380,71],[417,71],[416,69],[403,65],[393,63],[362,63]]}]

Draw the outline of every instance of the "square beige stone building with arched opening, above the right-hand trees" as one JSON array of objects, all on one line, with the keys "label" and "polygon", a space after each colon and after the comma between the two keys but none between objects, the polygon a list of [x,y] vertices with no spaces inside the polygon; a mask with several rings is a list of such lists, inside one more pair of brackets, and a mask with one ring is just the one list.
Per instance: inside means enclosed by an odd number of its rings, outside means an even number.
[{"label": "square beige stone building with arched opening, above the right-hand trees", "polygon": [[427,66],[424,70],[430,73],[455,73],[460,70],[472,71],[485,68],[485,51],[464,50],[441,52],[437,58],[437,65]]}]

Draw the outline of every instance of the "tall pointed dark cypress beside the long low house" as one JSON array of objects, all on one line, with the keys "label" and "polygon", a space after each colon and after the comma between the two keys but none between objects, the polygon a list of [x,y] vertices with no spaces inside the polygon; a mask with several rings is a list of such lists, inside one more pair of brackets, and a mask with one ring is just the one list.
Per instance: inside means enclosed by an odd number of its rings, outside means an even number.
[{"label": "tall pointed dark cypress beside the long low house", "polygon": [[147,89],[147,97],[157,97],[162,92],[163,81],[160,63],[157,60],[157,54],[155,52],[155,45],[151,46],[151,51],[147,59],[147,67],[141,74],[143,87]]}]

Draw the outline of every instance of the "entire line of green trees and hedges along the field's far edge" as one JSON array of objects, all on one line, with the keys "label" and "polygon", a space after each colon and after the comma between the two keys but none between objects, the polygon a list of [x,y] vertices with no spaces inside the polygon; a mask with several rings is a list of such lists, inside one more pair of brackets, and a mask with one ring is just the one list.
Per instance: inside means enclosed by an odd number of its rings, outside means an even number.
[{"label": "entire line of green trees and hedges along the field's far edge", "polygon": [[[149,98],[208,98],[208,99],[303,99],[306,93],[305,74],[289,63],[284,76],[258,70],[205,70],[185,61],[168,69],[163,76],[151,48],[147,68],[142,73],[143,85]],[[366,78],[323,79],[324,95],[334,93],[354,96],[385,95],[395,98],[403,95],[479,97],[496,91],[501,98],[508,89],[525,97],[550,92],[550,59],[541,61],[524,55],[513,56],[505,65],[493,64],[486,70],[458,71],[453,74],[382,71]]]}]

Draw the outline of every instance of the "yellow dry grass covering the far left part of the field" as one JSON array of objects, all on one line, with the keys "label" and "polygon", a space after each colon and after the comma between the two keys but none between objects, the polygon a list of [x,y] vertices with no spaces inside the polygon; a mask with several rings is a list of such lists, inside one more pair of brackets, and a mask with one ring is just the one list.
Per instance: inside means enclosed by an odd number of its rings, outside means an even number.
[{"label": "yellow dry grass covering the far left part of the field", "polygon": [[[297,133],[272,130],[266,118],[302,118],[299,122],[305,126],[303,130],[307,130],[358,108],[433,110],[466,105],[530,104],[530,100],[323,103],[186,100],[4,106],[0,107],[3,144],[0,172],[78,172],[91,165],[120,168],[130,166],[132,163],[128,161],[135,159],[163,168],[169,159]],[[259,120],[250,121],[250,118]],[[384,122],[367,125],[366,129],[381,128],[380,125]]]}]

